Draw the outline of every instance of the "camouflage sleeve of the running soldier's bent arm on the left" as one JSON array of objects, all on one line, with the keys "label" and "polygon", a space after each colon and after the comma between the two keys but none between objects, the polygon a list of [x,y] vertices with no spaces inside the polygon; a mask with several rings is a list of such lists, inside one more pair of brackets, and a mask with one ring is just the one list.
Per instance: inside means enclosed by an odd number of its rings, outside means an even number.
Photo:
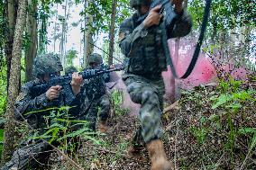
[{"label": "camouflage sleeve of the running soldier's bent arm on the left", "polygon": [[119,47],[126,57],[130,57],[131,52],[139,47],[137,40],[145,34],[143,23],[133,29],[133,18],[124,20],[120,26],[119,32]]}]

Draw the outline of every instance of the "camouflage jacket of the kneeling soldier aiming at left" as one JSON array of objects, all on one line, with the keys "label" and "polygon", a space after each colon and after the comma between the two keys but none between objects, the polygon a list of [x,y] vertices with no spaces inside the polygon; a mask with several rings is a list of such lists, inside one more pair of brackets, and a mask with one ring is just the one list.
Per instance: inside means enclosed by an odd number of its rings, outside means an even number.
[{"label": "camouflage jacket of the kneeling soldier aiming at left", "polygon": [[70,106],[70,117],[79,116],[79,107],[83,100],[83,95],[81,95],[81,93],[75,96],[71,86],[68,85],[61,90],[58,99],[49,101],[45,93],[37,94],[36,92],[32,92],[32,86],[40,85],[41,83],[40,79],[35,79],[23,85],[21,93],[18,95],[15,102],[17,110],[14,114],[17,120],[27,120],[32,128],[36,130],[45,128],[46,122],[44,116],[50,115],[50,112],[52,111],[49,110],[50,108]]}]

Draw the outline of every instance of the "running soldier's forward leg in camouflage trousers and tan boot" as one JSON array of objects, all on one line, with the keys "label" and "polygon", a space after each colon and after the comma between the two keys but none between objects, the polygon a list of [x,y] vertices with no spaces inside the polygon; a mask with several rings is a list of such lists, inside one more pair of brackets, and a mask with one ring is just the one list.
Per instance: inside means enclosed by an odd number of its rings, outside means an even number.
[{"label": "running soldier's forward leg in camouflage trousers and tan boot", "polygon": [[141,134],[151,158],[151,170],[172,169],[160,140],[162,135],[160,114],[163,106],[162,81],[149,82],[140,78],[128,78],[125,84],[133,102],[141,103],[139,114]]}]

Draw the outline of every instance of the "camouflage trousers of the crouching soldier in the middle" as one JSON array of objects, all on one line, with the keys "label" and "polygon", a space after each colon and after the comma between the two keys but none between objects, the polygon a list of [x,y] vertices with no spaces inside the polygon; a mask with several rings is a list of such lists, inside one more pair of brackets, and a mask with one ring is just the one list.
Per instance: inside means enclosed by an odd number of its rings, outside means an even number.
[{"label": "camouflage trousers of the crouching soldier in the middle", "polygon": [[99,118],[99,121],[106,121],[109,117],[111,109],[110,94],[104,94],[99,99],[90,101],[87,109],[85,120],[89,121],[91,130],[96,130],[97,118]]}]

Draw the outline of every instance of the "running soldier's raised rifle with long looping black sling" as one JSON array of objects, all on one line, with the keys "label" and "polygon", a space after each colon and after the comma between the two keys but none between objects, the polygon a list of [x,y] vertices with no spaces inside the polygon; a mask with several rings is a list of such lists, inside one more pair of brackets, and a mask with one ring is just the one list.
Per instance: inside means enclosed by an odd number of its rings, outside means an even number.
[{"label": "running soldier's raised rifle with long looping black sling", "polygon": [[168,35],[169,33],[173,30],[174,28],[174,24],[175,24],[175,20],[178,17],[178,14],[175,13],[173,11],[172,8],[172,4],[170,3],[169,0],[153,0],[150,6],[150,10],[148,13],[143,14],[137,21],[136,24],[139,25],[143,22],[143,20],[148,16],[148,14],[150,13],[151,9],[154,8],[157,5],[161,5],[160,8],[160,12],[159,13],[164,13],[163,15],[163,20],[160,22],[160,27],[165,30],[162,31],[162,37],[163,37],[163,44],[164,44],[164,53],[166,58],[169,58],[169,66],[172,72],[172,75],[176,78],[187,78],[187,76],[189,76],[191,74],[191,72],[193,71],[196,63],[197,63],[197,58],[200,52],[200,48],[204,39],[204,34],[206,31],[206,23],[208,20],[208,16],[210,13],[210,7],[211,7],[211,3],[212,0],[206,0],[206,8],[205,8],[205,13],[204,13],[204,17],[203,17],[203,22],[202,22],[202,26],[201,26],[201,31],[200,31],[200,35],[197,41],[197,47],[195,49],[194,55],[191,59],[191,62],[189,64],[189,66],[187,67],[187,71],[185,72],[185,74],[181,77],[178,77],[175,67],[173,65],[172,59],[170,58],[170,54],[169,54],[169,47],[168,47]]}]

